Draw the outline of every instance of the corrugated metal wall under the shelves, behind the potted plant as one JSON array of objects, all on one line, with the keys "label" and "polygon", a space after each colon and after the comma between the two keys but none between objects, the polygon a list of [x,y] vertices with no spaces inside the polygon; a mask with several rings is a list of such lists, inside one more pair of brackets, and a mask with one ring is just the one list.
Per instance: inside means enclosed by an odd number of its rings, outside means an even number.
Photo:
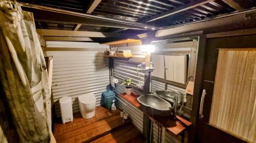
[{"label": "corrugated metal wall under the shelves, behind the potted plant", "polygon": [[[137,73],[137,65],[141,64],[141,61],[145,58],[145,53],[141,52],[141,46],[124,46],[118,47],[119,50],[129,49],[132,51],[135,58],[127,59],[114,59],[112,74],[115,78],[119,79],[119,83],[116,84],[114,89],[116,93],[116,104],[119,108],[123,109],[124,112],[128,113],[133,124],[143,132],[143,112],[138,108],[134,107],[132,104],[128,103],[122,97],[119,96],[120,93],[125,92],[125,85],[120,85],[125,78],[132,79],[133,91],[139,95],[141,92],[135,89],[137,83],[140,82],[139,75]],[[142,80],[144,80],[144,73],[139,72]]]}]

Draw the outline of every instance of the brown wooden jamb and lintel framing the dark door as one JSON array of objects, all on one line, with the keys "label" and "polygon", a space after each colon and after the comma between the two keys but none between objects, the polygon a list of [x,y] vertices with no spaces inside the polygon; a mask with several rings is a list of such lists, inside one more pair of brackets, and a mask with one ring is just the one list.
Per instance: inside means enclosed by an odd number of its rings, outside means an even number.
[{"label": "brown wooden jamb and lintel framing the dark door", "polygon": [[204,78],[204,62],[205,62],[205,56],[206,56],[207,41],[212,38],[240,37],[240,36],[249,36],[249,35],[256,35],[256,28],[205,34],[205,35],[199,36],[195,89],[194,89],[193,106],[192,106],[191,118],[190,118],[190,121],[193,123],[193,127],[189,129],[188,143],[194,142],[196,138],[200,137],[200,136],[196,136],[197,135],[196,132],[200,129],[198,127],[198,125],[200,124],[199,108],[200,108],[201,93],[202,93],[203,78]]}]

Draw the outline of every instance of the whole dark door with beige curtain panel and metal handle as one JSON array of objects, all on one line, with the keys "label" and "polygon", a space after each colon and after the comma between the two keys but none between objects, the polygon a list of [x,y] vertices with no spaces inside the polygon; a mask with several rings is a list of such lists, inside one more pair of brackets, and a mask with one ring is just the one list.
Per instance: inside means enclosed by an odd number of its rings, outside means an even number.
[{"label": "whole dark door with beige curtain panel and metal handle", "polygon": [[255,142],[255,39],[206,40],[195,142]]}]

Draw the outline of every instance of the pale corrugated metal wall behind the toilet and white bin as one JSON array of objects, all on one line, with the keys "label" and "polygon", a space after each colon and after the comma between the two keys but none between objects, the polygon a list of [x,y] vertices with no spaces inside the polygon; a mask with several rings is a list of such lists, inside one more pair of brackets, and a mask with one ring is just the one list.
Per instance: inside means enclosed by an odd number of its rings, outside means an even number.
[{"label": "pale corrugated metal wall behind the toilet and white bin", "polygon": [[[58,46],[50,45],[49,47]],[[79,47],[69,42],[62,47]],[[88,43],[79,42],[86,47]],[[92,45],[91,43],[89,45]],[[95,44],[94,48],[98,48]],[[92,47],[91,47],[92,48]],[[86,93],[94,93],[97,106],[101,102],[101,93],[106,90],[110,82],[109,61],[104,58],[103,47],[98,51],[47,51],[48,56],[53,56],[53,82],[52,87],[56,116],[60,116],[59,102],[61,97],[72,98],[73,112],[79,111],[77,97]]]}]

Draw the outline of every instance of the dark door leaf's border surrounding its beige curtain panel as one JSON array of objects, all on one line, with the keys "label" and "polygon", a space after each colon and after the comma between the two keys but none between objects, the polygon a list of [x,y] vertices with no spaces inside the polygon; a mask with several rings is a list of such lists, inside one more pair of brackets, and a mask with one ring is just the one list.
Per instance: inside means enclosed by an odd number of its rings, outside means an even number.
[{"label": "dark door leaf's border surrounding its beige curtain panel", "polygon": [[[206,96],[204,98],[203,105],[203,116],[204,118],[200,121],[198,120],[198,125],[200,126],[199,134],[200,140],[204,142],[205,140],[209,142],[217,142],[217,140],[222,140],[223,142],[245,142],[238,137],[234,137],[220,129],[210,126],[210,109],[212,102],[212,94],[214,92],[214,82],[217,70],[217,62],[219,49],[232,49],[232,48],[255,48],[256,46],[256,34],[254,35],[242,35],[242,36],[229,36],[229,37],[219,37],[219,38],[209,38],[207,39],[205,59],[204,59],[204,69],[203,73],[203,89],[206,90]],[[201,132],[203,131],[203,132]],[[212,136],[209,136],[211,134]]]}]

